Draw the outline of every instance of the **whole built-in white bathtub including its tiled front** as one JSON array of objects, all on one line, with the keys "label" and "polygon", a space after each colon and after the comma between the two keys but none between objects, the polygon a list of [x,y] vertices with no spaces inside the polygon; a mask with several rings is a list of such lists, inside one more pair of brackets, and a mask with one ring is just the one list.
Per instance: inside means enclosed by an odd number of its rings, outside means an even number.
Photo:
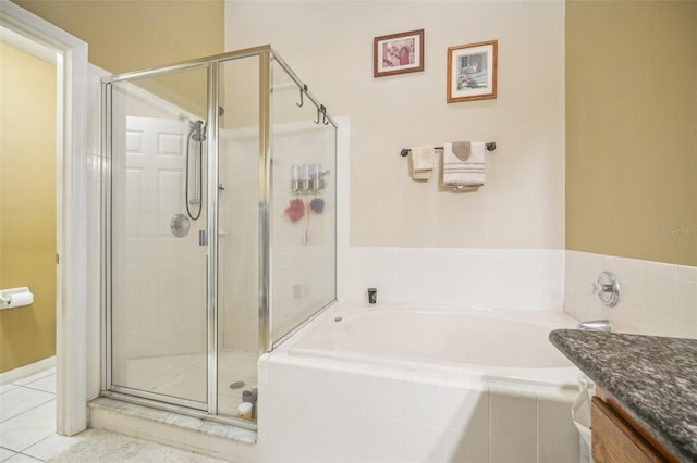
[{"label": "whole built-in white bathtub including its tiled front", "polygon": [[577,462],[561,311],[340,303],[260,360],[270,461]]}]

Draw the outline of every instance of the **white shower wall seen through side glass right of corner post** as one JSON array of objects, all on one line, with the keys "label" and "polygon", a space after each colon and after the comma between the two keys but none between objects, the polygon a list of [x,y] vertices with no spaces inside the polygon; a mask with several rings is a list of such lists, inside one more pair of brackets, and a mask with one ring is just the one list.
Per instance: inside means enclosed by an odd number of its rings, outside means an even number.
[{"label": "white shower wall seen through side glass right of corner post", "polygon": [[[335,214],[333,130],[313,122],[277,125],[273,133],[271,205],[271,336],[282,337],[335,298]],[[291,191],[291,166],[321,163],[325,188],[316,193]],[[313,199],[323,200],[321,213]],[[284,211],[302,200],[304,216],[293,223]]]}]

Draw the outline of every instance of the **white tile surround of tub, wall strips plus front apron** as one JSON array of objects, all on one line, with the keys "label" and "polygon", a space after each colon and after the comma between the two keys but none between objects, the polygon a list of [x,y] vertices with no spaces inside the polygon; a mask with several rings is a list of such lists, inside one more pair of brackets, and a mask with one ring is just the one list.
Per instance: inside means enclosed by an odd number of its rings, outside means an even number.
[{"label": "white tile surround of tub, wall strips plus front apron", "polygon": [[[346,299],[376,286],[388,302],[563,308],[577,320],[609,317],[617,331],[697,337],[692,266],[576,251],[347,247],[343,253],[340,295]],[[606,270],[621,283],[612,309],[590,293]],[[262,359],[259,374],[265,461],[563,462],[578,455],[572,390],[298,359],[283,348]]]}]

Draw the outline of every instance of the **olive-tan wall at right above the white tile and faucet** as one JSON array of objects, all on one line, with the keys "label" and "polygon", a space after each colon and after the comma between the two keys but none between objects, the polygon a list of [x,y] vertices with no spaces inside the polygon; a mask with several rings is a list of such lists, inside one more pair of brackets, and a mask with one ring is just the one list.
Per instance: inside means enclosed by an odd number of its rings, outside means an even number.
[{"label": "olive-tan wall at right above the white tile and faucet", "polygon": [[697,2],[566,3],[566,248],[697,265]]}]

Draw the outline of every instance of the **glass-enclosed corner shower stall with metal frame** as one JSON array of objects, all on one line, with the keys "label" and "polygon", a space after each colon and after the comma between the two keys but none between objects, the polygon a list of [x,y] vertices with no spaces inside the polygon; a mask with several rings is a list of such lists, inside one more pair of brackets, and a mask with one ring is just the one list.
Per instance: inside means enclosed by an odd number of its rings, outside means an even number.
[{"label": "glass-enclosed corner shower stall with metal frame", "polygon": [[337,125],[269,46],[102,103],[102,393],[255,428],[259,354],[335,301]]}]

